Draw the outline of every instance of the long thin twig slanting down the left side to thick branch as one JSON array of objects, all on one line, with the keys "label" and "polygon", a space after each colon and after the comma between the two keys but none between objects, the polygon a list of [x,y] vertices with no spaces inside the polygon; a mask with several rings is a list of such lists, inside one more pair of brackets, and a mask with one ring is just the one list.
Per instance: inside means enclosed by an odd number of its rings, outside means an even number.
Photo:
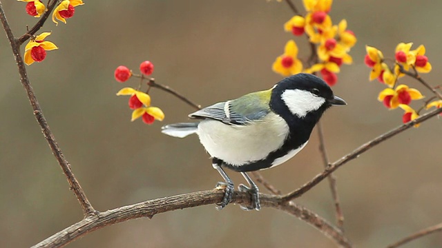
[{"label": "long thin twig slanting down the left side to thick branch", "polygon": [[64,155],[61,152],[57,141],[55,141],[54,135],[50,131],[49,125],[46,122],[46,118],[44,117],[43,112],[41,112],[41,107],[39,105],[39,102],[37,101],[37,96],[35,96],[35,92],[30,85],[28,74],[26,73],[26,67],[23,63],[23,58],[21,57],[19,41],[15,39],[14,34],[12,34],[12,30],[10,29],[10,25],[8,23],[8,20],[6,19],[5,12],[3,11],[1,1],[0,19],[1,24],[3,25],[3,29],[6,32],[6,36],[9,39],[10,46],[12,48],[12,54],[14,54],[15,57],[15,62],[17,63],[17,67],[19,68],[20,82],[26,91],[26,95],[28,96],[30,105],[32,106],[32,110],[34,111],[34,116],[37,119],[37,123],[39,123],[41,127],[41,132],[43,132],[44,138],[46,139],[50,149],[52,150],[52,154],[54,154],[59,165],[61,166],[61,169],[63,169],[63,172],[68,179],[70,189],[73,189],[73,192],[81,205],[81,209],[83,209],[84,216],[93,215],[95,214],[95,209],[93,209],[92,205],[90,205],[86,194],[84,193],[83,189],[81,189],[77,178],[75,178],[72,170],[70,169],[68,161],[66,161],[66,158],[64,158]]}]

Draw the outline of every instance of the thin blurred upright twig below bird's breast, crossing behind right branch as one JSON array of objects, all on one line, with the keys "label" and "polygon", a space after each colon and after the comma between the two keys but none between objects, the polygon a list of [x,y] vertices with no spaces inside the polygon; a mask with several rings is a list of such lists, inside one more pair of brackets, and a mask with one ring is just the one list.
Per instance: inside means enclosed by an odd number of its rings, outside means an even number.
[{"label": "thin blurred upright twig below bird's breast, crossing behind right branch", "polygon": [[[318,136],[319,136],[319,151],[323,158],[323,163],[325,169],[329,166],[329,157],[327,155],[327,149],[325,148],[325,139],[324,139],[324,132],[323,132],[323,125],[319,121],[318,125],[316,125],[318,128]],[[334,202],[335,207],[335,215],[336,215],[336,225],[340,228],[341,231],[344,231],[344,214],[343,210],[340,207],[339,203],[339,195],[338,195],[338,185],[336,184],[336,176],[334,176],[333,173],[331,173],[328,176],[329,180],[329,187],[332,192],[332,198]]]}]

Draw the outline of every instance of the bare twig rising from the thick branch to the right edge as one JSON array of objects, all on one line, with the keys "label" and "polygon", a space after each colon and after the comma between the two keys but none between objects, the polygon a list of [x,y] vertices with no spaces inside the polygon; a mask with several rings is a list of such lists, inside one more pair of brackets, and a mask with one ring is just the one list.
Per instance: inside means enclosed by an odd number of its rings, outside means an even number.
[{"label": "bare twig rising from the thick branch to the right edge", "polygon": [[382,143],[383,141],[386,141],[389,138],[392,138],[393,136],[396,136],[397,134],[400,134],[401,132],[409,129],[410,127],[413,127],[417,123],[422,123],[423,121],[427,121],[429,118],[432,118],[438,114],[442,113],[442,107],[436,110],[433,110],[431,112],[427,112],[426,114],[423,114],[419,116],[418,118],[415,118],[413,121],[407,122],[403,125],[400,125],[393,130],[390,130],[389,132],[386,132],[385,134],[381,134],[380,136],[374,138],[372,141],[369,141],[360,147],[354,149],[353,152],[350,152],[349,154],[343,156],[342,158],[338,159],[334,163],[330,164],[329,167],[327,167],[324,172],[321,174],[316,175],[312,180],[310,180],[308,183],[305,183],[305,185],[302,185],[300,188],[296,189],[294,192],[291,192],[285,196],[283,196],[285,201],[292,200],[294,198],[297,198],[299,196],[302,196],[305,192],[309,191],[312,187],[320,183],[322,180],[324,180],[329,174],[334,172],[336,169],[338,169],[340,166],[344,165],[345,163],[348,163],[349,161],[352,161],[354,158],[357,158],[359,155],[363,154],[364,152],[367,152],[367,150],[372,149],[379,143]]}]

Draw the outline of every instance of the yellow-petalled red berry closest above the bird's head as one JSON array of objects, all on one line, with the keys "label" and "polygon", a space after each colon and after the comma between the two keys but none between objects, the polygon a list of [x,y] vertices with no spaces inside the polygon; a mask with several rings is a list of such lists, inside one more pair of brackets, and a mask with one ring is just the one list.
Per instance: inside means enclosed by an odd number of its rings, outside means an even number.
[{"label": "yellow-petalled red berry closest above the bird's head", "polygon": [[276,61],[273,62],[273,72],[282,74],[282,76],[289,76],[301,72],[302,63],[297,56],[298,46],[295,41],[288,41],[285,45],[284,54],[278,56]]}]

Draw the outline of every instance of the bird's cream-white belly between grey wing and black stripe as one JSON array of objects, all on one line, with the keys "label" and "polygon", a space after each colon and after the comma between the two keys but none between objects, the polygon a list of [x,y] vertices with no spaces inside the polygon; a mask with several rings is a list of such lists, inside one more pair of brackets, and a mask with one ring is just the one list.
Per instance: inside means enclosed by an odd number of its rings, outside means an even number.
[{"label": "bird's cream-white belly between grey wing and black stripe", "polygon": [[266,158],[280,148],[289,134],[289,126],[283,118],[270,112],[250,125],[205,120],[198,125],[197,134],[211,156],[231,165],[243,165]]}]

